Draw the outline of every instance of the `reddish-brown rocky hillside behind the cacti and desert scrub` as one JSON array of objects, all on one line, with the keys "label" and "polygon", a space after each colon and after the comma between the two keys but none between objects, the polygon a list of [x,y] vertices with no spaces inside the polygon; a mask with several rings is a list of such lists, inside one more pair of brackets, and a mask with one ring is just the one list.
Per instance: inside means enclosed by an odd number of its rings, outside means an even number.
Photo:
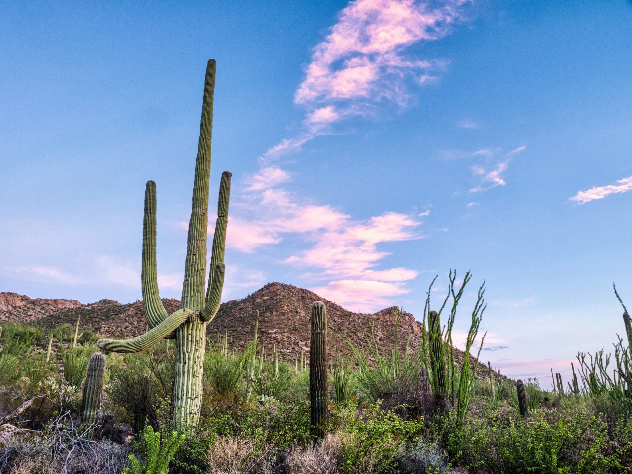
[{"label": "reddish-brown rocky hillside behind the cacti and desert scrub", "polygon": [[[180,306],[180,301],[175,299],[162,301],[169,313]],[[269,283],[243,300],[222,303],[215,319],[208,325],[207,334],[212,338],[218,333],[228,334],[231,346],[243,348],[252,341],[258,310],[258,336],[265,338],[266,352],[276,346],[284,360],[293,361],[296,356],[300,357],[301,350],[308,357],[310,311],[314,301],[324,301],[327,307],[332,356],[351,354],[349,341],[356,348],[366,348],[366,336],[372,336],[372,328],[380,352],[390,353],[395,343],[395,307],[373,314],[353,313],[312,291],[282,283]],[[138,336],[147,327],[141,301],[121,305],[118,301],[100,300],[82,305],[75,300],[32,300],[15,293],[0,293],[0,321],[28,322],[50,331],[61,324],[74,325],[78,317],[81,317],[82,328],[90,326],[101,337]],[[421,323],[411,313],[404,312],[399,327],[400,347],[403,350],[408,341],[414,351],[421,343]],[[462,357],[461,351],[457,350],[456,358],[462,360]]]}]

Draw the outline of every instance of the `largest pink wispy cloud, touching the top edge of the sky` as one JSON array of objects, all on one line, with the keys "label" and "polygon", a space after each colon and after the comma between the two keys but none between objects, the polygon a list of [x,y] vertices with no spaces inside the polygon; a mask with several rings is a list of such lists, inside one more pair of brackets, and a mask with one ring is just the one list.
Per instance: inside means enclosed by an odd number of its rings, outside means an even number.
[{"label": "largest pink wispy cloud, touching the top edge of the sky", "polygon": [[294,102],[305,107],[303,131],[270,148],[264,162],[300,150],[334,123],[375,114],[379,104],[405,107],[410,84],[434,82],[446,61],[406,56],[406,48],[441,39],[463,21],[470,0],[355,0],[314,49]]}]

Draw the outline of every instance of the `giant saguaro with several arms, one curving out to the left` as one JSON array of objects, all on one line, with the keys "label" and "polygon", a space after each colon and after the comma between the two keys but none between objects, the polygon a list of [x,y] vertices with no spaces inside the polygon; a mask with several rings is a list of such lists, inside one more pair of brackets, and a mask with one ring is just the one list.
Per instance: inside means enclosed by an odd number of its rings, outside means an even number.
[{"label": "giant saguaro with several arms, one curving out to the left", "polygon": [[217,310],[224,285],[224,246],[228,224],[231,174],[222,173],[217,205],[217,222],[212,244],[209,286],[205,293],[207,224],[209,208],[210,144],[215,88],[214,59],[209,59],[204,80],[200,139],[195,161],[193,205],[188,228],[185,281],[181,309],[167,315],[160,298],[156,271],[156,187],[147,182],[143,219],[142,293],[145,316],[150,330],[142,336],[117,341],[100,339],[99,348],[112,352],[139,352],[163,338],[175,339],[175,380],[172,392],[173,426],[182,430],[195,426],[202,403],[202,373],[206,346],[206,326]]}]

